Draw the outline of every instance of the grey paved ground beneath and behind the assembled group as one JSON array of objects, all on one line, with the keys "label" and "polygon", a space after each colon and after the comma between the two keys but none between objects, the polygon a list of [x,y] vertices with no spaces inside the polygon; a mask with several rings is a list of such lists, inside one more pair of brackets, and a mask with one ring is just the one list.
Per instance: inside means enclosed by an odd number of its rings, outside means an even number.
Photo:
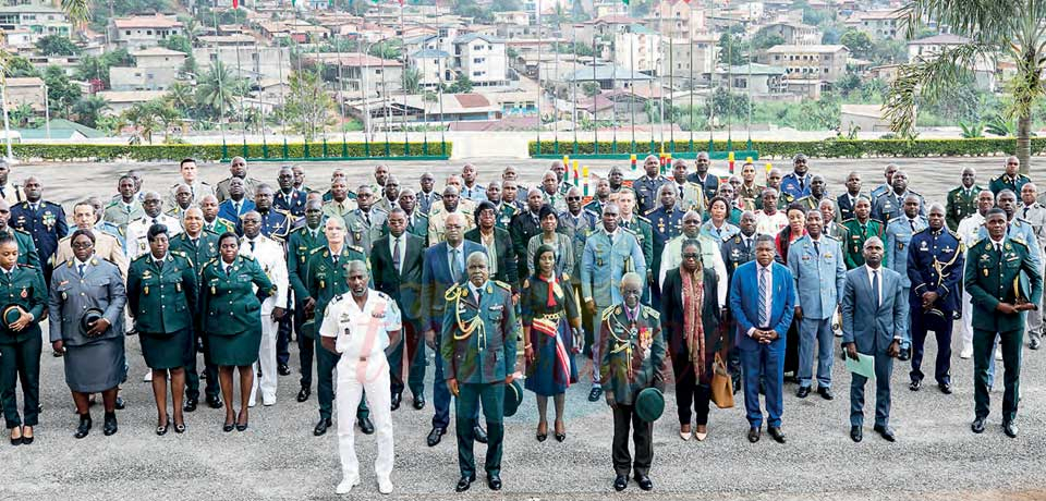
[{"label": "grey paved ground beneath and behind the assembled group", "polygon": [[[490,176],[509,160],[484,159],[481,175]],[[536,179],[544,161],[511,160]],[[982,167],[982,180],[997,170],[1001,159],[921,159],[899,161],[909,170],[915,190],[929,199],[958,180],[959,166]],[[866,185],[877,183],[881,161],[813,161],[814,171],[826,172],[839,185],[851,169],[866,174]],[[435,163],[392,163],[394,172],[443,173],[457,169]],[[369,164],[348,166],[358,179]],[[605,166],[599,166],[605,167]],[[22,166],[15,178],[36,172],[45,181],[48,198],[69,203],[86,194],[112,193],[115,174],[126,164]],[[255,167],[253,175],[273,178],[275,166]],[[327,179],[333,164],[308,164],[312,184]],[[169,186],[175,179],[171,166],[141,166],[150,186]],[[266,172],[263,174],[263,172]],[[1036,173],[1038,171],[1036,170]],[[222,178],[224,169],[207,167],[206,179]],[[1033,176],[1037,178],[1037,176]],[[958,350],[958,342],[953,346]],[[928,343],[924,371],[929,369],[936,346]],[[436,448],[425,447],[431,404],[423,411],[410,407],[410,398],[394,416],[397,459],[393,472],[399,499],[624,499],[657,496],[661,499],[1046,499],[1042,479],[1046,447],[1046,353],[1025,351],[1022,378],[1021,436],[1006,438],[999,427],[1001,393],[993,393],[989,427],[982,436],[969,431],[973,417],[972,363],[954,357],[956,393],[940,394],[927,386],[919,393],[907,389],[907,368],[897,364],[893,376],[891,424],[899,441],[887,443],[866,429],[865,441],[848,437],[849,376],[841,365],[834,369],[837,399],[823,401],[793,396],[786,387],[784,430],[788,444],[768,437],[756,444],[745,440],[747,425],[742,410],[714,410],[707,441],[682,442],[676,435],[674,414],[669,411],[656,424],[653,479],[655,494],[642,493],[634,484],[624,494],[612,491],[610,467],[611,417],[605,404],[588,403],[585,383],[568,392],[568,438],[537,443],[534,440],[536,406],[531,395],[519,414],[507,420],[503,460],[504,490],[491,493],[482,482],[467,496],[453,493],[458,478],[454,436],[451,431]],[[0,443],[0,497],[3,499],[281,499],[333,498],[339,481],[337,438],[312,436],[317,417],[315,395],[294,401],[297,376],[280,378],[279,402],[252,412],[246,432],[222,433],[222,412],[202,407],[186,417],[185,435],[153,432],[156,414],[150,388],[139,382],[145,365],[138,340],[127,339],[131,380],[124,386],[127,410],[119,413],[120,432],[101,435],[101,410],[94,408],[96,429],[84,440],[71,436],[76,426],[72,401],[63,381],[62,362],[45,351],[42,358],[41,424],[31,447]],[[292,367],[297,366],[292,349]],[[430,377],[429,377],[430,380]],[[430,382],[430,381],[429,381]],[[431,400],[431,386],[427,387]],[[669,393],[668,400],[672,401]],[[739,405],[741,404],[739,400]],[[869,403],[871,407],[871,403]],[[871,421],[871,418],[868,419]],[[372,437],[358,440],[363,464],[362,485],[351,499],[384,499],[377,493],[370,469],[375,456]],[[477,447],[477,451],[483,451]],[[12,467],[13,466],[13,467]]]}]

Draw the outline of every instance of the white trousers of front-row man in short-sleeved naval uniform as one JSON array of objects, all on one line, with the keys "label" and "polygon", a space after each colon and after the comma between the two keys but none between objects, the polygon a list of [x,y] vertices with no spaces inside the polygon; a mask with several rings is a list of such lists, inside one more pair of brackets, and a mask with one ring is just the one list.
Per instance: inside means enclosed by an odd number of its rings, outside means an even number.
[{"label": "white trousers of front-row man in short-sleeved naval uniform", "polygon": [[[388,363],[385,354],[372,357],[372,364],[386,367],[385,370],[356,371],[353,361],[342,356],[338,363],[338,451],[341,455],[343,479],[360,476],[360,461],[356,459],[355,426],[356,407],[363,392],[367,394],[370,419],[374,421],[375,437],[378,442],[378,456],[374,460],[374,472],[378,481],[391,480],[392,475],[392,410]],[[362,378],[362,380],[361,380]]]}]

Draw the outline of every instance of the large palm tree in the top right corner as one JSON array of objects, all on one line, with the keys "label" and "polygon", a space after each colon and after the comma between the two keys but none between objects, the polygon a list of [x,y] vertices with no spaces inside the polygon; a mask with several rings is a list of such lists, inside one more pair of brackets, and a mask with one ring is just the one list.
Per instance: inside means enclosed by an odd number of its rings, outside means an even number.
[{"label": "large palm tree in the top right corner", "polygon": [[900,9],[902,23],[913,36],[922,20],[950,26],[952,33],[970,39],[946,49],[932,59],[917,58],[904,64],[890,86],[886,117],[898,134],[910,136],[919,101],[935,101],[969,75],[970,69],[997,57],[1017,63],[1017,73],[1006,84],[1010,95],[1008,118],[1017,118],[1017,157],[1021,172],[1029,172],[1032,110],[1046,96],[1046,2],[1010,0],[912,0]]}]

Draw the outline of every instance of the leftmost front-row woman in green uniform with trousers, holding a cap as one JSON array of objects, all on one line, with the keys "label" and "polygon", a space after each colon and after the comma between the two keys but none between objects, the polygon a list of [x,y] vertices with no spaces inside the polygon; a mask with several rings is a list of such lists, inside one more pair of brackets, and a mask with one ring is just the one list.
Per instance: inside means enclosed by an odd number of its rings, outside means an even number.
[{"label": "leftmost front-row woman in green uniform with trousers, holding a cap", "polygon": [[[31,444],[40,408],[40,347],[37,319],[47,305],[47,288],[39,269],[19,265],[19,244],[0,235],[0,402],[11,430],[11,444]],[[8,308],[15,308],[10,310]],[[16,317],[15,317],[16,315]],[[22,416],[15,386],[22,379]]]}]

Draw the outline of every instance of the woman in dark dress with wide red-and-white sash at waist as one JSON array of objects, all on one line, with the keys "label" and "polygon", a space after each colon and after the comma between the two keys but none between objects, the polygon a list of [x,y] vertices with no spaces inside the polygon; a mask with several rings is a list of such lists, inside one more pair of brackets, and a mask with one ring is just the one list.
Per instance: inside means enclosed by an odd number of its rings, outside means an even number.
[{"label": "woman in dark dress with wide red-and-white sash at waist", "polygon": [[537,394],[537,441],[548,438],[546,413],[551,396],[556,403],[556,440],[562,442],[567,439],[565,392],[570,383],[577,382],[574,353],[584,339],[580,333],[581,313],[570,277],[556,271],[555,247],[540,245],[532,266],[537,271],[523,282],[521,294],[526,389]]}]

